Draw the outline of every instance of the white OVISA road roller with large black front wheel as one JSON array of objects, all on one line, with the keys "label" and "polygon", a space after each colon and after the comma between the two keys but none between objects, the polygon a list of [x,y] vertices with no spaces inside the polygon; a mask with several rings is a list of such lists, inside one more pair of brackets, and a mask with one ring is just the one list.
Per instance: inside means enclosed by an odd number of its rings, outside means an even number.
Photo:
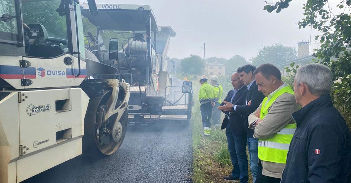
[{"label": "white OVISA road roller with large black front wheel", "polygon": [[[96,16],[95,1],[88,4]],[[97,79],[117,69],[84,49],[79,3],[1,0],[0,11],[0,182],[24,181],[82,147],[114,153],[126,133],[130,86]],[[116,57],[118,44],[110,45]]]}]

